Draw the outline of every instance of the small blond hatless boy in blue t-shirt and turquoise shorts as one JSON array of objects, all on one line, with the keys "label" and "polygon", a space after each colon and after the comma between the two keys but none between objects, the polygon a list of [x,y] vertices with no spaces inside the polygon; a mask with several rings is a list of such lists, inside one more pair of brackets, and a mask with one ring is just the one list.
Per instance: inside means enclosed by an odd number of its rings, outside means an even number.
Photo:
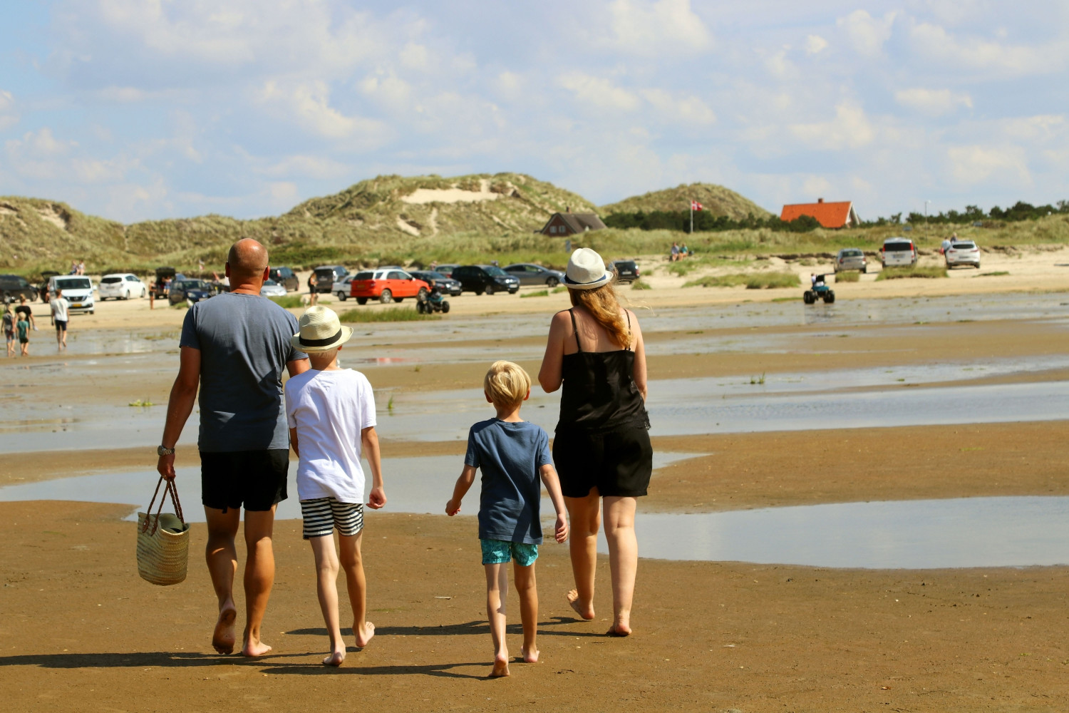
[{"label": "small blond hatless boy in blue t-shirt and turquoise shorts", "polygon": [[549,436],[540,427],[520,419],[520,406],[530,396],[530,376],[511,361],[495,361],[482,387],[486,401],[494,404],[497,418],[476,423],[468,432],[464,470],[456,480],[453,497],[446,503],[446,513],[452,516],[461,511],[461,500],[475,481],[476,469],[482,470],[479,543],[486,570],[486,616],[494,641],[494,668],[490,675],[500,677],[509,675],[505,604],[509,593],[507,565],[513,558],[520,619],[524,624],[521,653],[525,662],[538,662],[534,560],[542,543],[540,477],[557,511],[554,526],[557,542],[568,540],[568,518],[557,471],[549,460]]}]

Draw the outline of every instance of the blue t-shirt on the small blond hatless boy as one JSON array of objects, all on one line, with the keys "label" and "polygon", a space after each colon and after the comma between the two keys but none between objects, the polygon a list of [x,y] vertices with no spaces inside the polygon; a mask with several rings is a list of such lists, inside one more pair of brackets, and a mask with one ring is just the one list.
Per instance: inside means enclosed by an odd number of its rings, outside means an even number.
[{"label": "blue t-shirt on the small blond hatless boy", "polygon": [[542,427],[496,418],[476,423],[464,463],[482,472],[479,539],[542,544],[539,468],[553,463]]}]

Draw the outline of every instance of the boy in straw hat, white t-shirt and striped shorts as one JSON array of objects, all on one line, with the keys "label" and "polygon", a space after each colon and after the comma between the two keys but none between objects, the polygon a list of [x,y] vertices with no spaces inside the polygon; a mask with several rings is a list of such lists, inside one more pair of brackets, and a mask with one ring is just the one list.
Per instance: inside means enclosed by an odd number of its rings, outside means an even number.
[{"label": "boy in straw hat, white t-shirt and striped shorts", "polygon": [[345,660],[345,644],[338,622],[336,527],[353,607],[356,646],[367,646],[375,635],[374,624],[365,620],[361,453],[371,466],[368,507],[377,510],[386,505],[371,384],[358,371],[338,368],[338,352],[352,336],[353,330],[341,326],[334,310],[310,307],[300,317],[300,331],[292,341],[308,354],[312,368],[285,383],[290,445],[299,459],[297,497],[305,521],[304,537],[311,542],[315,555],[316,591],[330,636],[330,653],[323,658],[327,666],[340,666]]}]

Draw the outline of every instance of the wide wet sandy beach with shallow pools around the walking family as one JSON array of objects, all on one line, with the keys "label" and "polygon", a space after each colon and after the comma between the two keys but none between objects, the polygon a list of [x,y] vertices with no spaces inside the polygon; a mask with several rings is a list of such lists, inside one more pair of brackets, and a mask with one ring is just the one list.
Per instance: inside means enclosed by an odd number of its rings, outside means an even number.
[{"label": "wide wet sandy beach with shallow pools around the walking family", "polygon": [[[1029,273],[1028,290],[1012,274],[956,272],[845,283],[832,306],[804,307],[800,290],[655,283],[629,293],[649,308],[639,317],[654,448],[672,454],[640,502],[650,517],[638,524],[639,546],[677,537],[721,554],[644,558],[635,634],[615,639],[604,636],[607,561],[598,617],[580,622],[563,596],[567,547],[546,544],[542,662],[497,681],[485,679],[474,513],[430,514],[424,500],[440,492],[444,507],[467,427],[485,418],[486,362],[511,358],[537,371],[564,295],[465,295],[445,320],[357,325],[341,360],[376,388],[391,502],[369,515],[365,533],[377,636],[331,670],[319,663],[327,639],[299,521],[276,525],[264,630],[274,651],[263,658],[212,651],[202,524],[192,525],[185,583],[138,578],[125,518],[155,484],[183,311],[109,303],[72,324],[67,353],[56,356],[38,338],[35,356],[0,372],[4,696],[27,711],[1066,710],[1069,556],[1056,527],[1069,496],[1069,267],[1057,264],[1069,260],[1051,254]],[[557,397],[536,391],[524,417],[552,431]],[[156,405],[128,405],[137,401]],[[196,478],[195,443],[190,423],[177,462],[187,511],[199,507],[192,486],[183,490]],[[391,462],[403,468],[394,492]],[[865,503],[897,503],[905,514],[866,512],[859,525],[856,515],[823,514],[831,511],[808,517],[810,508]],[[1009,514],[951,516],[962,503]],[[786,532],[784,542],[797,544],[794,563],[785,563],[786,545],[763,558],[732,541],[738,521],[695,530],[697,521],[684,520],[741,514],[768,517],[748,540]],[[1019,531],[1032,521],[1033,531]],[[911,543],[917,531],[925,537]],[[832,539],[806,551],[818,533]],[[1003,552],[1011,542],[1020,546]],[[946,559],[873,567],[827,558],[834,549],[876,561],[909,546]],[[976,556],[993,563],[977,565]],[[511,632],[518,650],[518,627]]]}]

